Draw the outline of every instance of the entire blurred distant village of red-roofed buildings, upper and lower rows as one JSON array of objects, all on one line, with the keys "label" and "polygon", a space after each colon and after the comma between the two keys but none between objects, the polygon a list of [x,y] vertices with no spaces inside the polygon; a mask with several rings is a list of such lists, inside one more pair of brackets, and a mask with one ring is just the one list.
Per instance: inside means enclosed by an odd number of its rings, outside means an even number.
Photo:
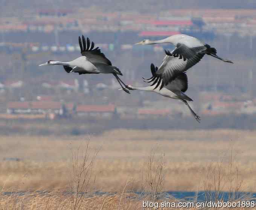
[{"label": "entire blurred distant village of red-roofed buildings, upper and lower rows", "polygon": [[[24,63],[29,56],[40,53],[72,53],[80,51],[76,42],[67,40],[66,44],[59,42],[59,33],[62,31],[81,32],[84,34],[94,33],[133,33],[140,39],[159,39],[179,33],[212,38],[222,34],[230,37],[232,34],[248,36],[251,39],[256,36],[256,10],[225,10],[225,9],[173,9],[165,10],[156,14],[140,14],[138,12],[95,12],[81,8],[78,12],[72,9],[42,9],[35,13],[28,13],[25,18],[3,17],[0,19],[0,52],[13,54],[18,52],[19,59]],[[6,41],[6,35],[10,33],[44,33],[54,34],[55,39],[46,42],[10,42]],[[200,38],[200,37],[199,37]],[[77,40],[76,40],[77,41]],[[119,48],[122,51],[136,50],[132,43],[97,43],[102,51],[114,51]],[[146,50],[162,52],[163,46],[148,45]],[[21,66],[20,68],[25,68]],[[24,69],[23,69],[24,70]],[[17,92],[22,89],[27,81],[24,80],[1,80],[0,94]],[[56,99],[52,93],[64,92],[82,93],[90,96],[92,89],[100,91],[116,90],[118,84],[113,80],[111,84],[93,83],[88,84],[86,79],[77,80],[46,80],[38,83],[38,88],[50,94],[35,95],[34,98],[9,99],[6,102],[6,110],[2,110],[0,118],[16,119],[50,119],[56,118],[154,118],[174,117],[175,115],[187,116],[190,113],[181,109],[180,104],[171,107],[156,108],[142,102],[133,109],[105,102],[105,104],[82,104]],[[201,115],[223,114],[253,114],[256,113],[256,99],[248,100],[246,97],[235,98],[221,92],[201,92],[198,96],[201,105],[198,108]]]}]

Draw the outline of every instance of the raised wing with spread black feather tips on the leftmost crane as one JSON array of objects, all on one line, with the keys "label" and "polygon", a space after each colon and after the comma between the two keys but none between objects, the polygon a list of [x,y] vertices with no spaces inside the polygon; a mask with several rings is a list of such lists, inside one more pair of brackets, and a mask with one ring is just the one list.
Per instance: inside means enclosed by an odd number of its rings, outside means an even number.
[{"label": "raised wing with spread black feather tips on the leftmost crane", "polygon": [[108,58],[106,58],[104,53],[101,52],[101,49],[99,49],[99,47],[94,48],[94,42],[90,42],[88,37],[85,40],[84,35],[82,35],[82,39],[79,36],[79,45],[81,54],[84,55],[91,63],[104,63],[112,66],[112,63]]}]

